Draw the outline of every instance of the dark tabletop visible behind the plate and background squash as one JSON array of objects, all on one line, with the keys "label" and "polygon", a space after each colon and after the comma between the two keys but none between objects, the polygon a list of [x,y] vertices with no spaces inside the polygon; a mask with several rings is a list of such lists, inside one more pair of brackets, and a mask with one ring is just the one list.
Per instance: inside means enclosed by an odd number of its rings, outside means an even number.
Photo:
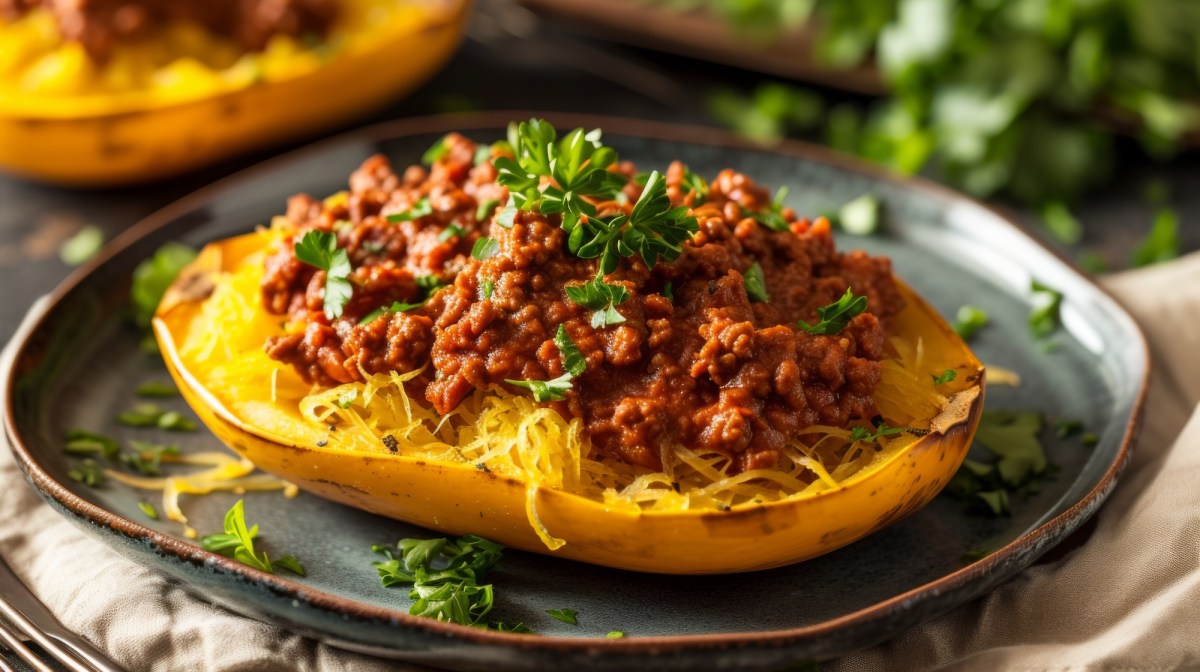
[{"label": "dark tabletop visible behind the plate and background squash", "polygon": [[[520,25],[505,24],[492,8],[485,0],[463,48],[434,80],[356,125],[464,108],[587,112],[710,124],[704,114],[706,92],[720,85],[749,90],[764,79],[742,70],[582,37],[553,22],[528,20],[532,14],[518,13]],[[330,134],[350,127],[354,125]],[[1200,221],[1200,156],[1154,164],[1129,145],[1122,150],[1118,178],[1079,211],[1087,229],[1084,245],[1123,266],[1151,222],[1152,212],[1142,197],[1145,184],[1158,178],[1172,187],[1184,248],[1200,248],[1200,227],[1190,224]],[[271,154],[259,152],[150,186],[110,191],[68,190],[0,176],[0,342],[10,337],[29,305],[71,271],[59,260],[58,247],[80,227],[95,224],[112,238],[172,200]]]}]

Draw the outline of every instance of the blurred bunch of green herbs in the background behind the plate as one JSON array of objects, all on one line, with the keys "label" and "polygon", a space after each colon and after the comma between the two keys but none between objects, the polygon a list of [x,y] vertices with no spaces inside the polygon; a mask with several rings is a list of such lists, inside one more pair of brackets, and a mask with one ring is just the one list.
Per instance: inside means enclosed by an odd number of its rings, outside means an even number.
[{"label": "blurred bunch of green herbs in the background behind the plate", "polygon": [[1110,176],[1117,134],[1134,134],[1164,157],[1200,131],[1194,0],[701,4],[756,35],[773,7],[775,40],[808,23],[818,62],[874,62],[889,91],[869,106],[830,104],[784,84],[750,96],[718,91],[710,98],[718,120],[762,142],[816,132],[904,173],[925,170],[979,197],[1015,198],[1066,242],[1081,235],[1067,208]]}]

